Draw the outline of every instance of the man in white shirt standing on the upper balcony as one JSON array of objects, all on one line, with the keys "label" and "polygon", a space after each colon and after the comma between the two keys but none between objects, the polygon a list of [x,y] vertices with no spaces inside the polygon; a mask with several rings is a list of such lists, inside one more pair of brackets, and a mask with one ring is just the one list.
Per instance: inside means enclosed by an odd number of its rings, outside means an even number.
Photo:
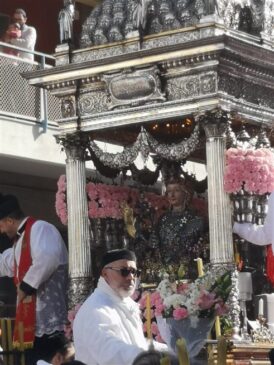
[{"label": "man in white shirt standing on the upper balcony", "polygon": [[[34,51],[37,33],[34,27],[30,27],[26,24],[27,14],[23,9],[16,9],[13,14],[13,21],[19,23],[21,26],[21,37],[12,38],[10,43],[20,48],[26,48],[29,51]],[[19,51],[18,57],[33,61],[34,56],[32,53]]]}]

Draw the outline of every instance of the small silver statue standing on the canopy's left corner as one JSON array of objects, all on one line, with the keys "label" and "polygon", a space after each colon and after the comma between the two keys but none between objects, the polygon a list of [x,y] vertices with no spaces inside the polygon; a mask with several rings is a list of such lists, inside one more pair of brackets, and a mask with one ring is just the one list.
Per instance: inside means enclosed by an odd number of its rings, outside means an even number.
[{"label": "small silver statue standing on the canopy's left corner", "polygon": [[64,0],[64,8],[58,16],[60,43],[71,42],[73,38],[73,20],[75,17],[74,0]]}]

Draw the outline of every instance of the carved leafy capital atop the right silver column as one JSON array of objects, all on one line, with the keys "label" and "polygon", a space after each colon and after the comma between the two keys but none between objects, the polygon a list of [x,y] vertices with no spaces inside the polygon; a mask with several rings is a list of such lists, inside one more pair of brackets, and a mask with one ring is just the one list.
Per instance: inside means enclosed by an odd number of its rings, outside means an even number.
[{"label": "carved leafy capital atop the right silver column", "polygon": [[225,137],[230,120],[229,113],[217,108],[206,111],[203,114],[196,116],[196,121],[199,121],[201,127],[204,128],[206,138]]}]

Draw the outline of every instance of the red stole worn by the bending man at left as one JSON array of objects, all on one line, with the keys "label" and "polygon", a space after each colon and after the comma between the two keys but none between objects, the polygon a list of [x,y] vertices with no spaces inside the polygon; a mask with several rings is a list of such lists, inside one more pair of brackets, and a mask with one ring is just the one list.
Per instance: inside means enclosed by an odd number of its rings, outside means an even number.
[{"label": "red stole worn by the bending man at left", "polygon": [[[14,259],[14,283],[19,286],[25,274],[32,264],[30,249],[30,231],[36,220],[29,217],[26,222],[25,234],[23,237],[20,263],[16,265]],[[33,346],[35,337],[36,322],[36,295],[28,296],[20,303],[17,303],[15,327],[13,333],[13,346],[30,348]]]}]

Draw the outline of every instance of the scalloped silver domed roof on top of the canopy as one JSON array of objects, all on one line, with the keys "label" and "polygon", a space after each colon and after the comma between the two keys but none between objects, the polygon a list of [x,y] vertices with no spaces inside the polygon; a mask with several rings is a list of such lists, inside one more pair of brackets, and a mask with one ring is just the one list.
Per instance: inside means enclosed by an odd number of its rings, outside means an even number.
[{"label": "scalloped silver domed roof on top of the canopy", "polygon": [[272,35],[272,0],[105,0],[87,17],[81,47],[217,20],[227,28]]}]

